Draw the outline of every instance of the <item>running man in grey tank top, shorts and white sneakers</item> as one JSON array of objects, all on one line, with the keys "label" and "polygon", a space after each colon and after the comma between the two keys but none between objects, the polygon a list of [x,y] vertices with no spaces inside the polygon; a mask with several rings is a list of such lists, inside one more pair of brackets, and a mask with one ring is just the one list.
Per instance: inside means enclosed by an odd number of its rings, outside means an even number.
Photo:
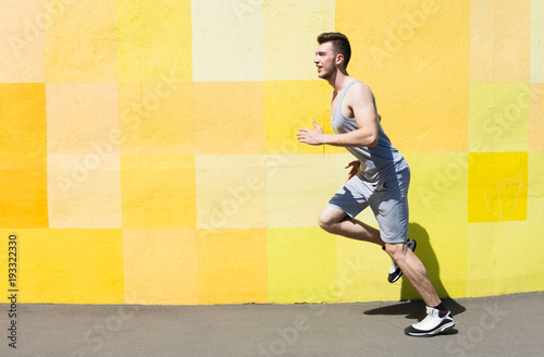
[{"label": "running man in grey tank top, shorts and white sneakers", "polygon": [[[394,283],[404,273],[426,305],[426,317],[406,328],[407,335],[432,336],[449,330],[455,325],[452,313],[413,254],[416,242],[407,239],[410,168],[383,132],[371,89],[347,74],[351,56],[347,37],[325,33],[318,42],[313,63],[318,76],[334,89],[331,124],[336,134],[324,134],[313,121],[313,130],[299,128],[298,141],[345,147],[357,159],[347,164],[351,168],[347,181],[321,211],[319,225],[332,234],[376,244],[390,255],[387,280]],[[354,219],[369,206],[380,230]]]}]

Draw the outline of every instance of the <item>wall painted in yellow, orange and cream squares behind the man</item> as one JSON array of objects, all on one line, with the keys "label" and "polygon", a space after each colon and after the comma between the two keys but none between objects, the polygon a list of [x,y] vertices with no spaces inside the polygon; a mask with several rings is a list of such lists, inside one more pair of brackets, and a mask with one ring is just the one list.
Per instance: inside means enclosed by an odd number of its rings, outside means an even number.
[{"label": "wall painted in yellow, orange and cream squares behind the man", "polygon": [[543,13],[540,0],[3,1],[0,271],[16,235],[22,303],[417,297],[386,282],[381,249],[317,226],[351,157],[295,133],[332,132],[312,59],[317,35],[338,30],[411,167],[409,236],[440,295],[542,291]]}]

